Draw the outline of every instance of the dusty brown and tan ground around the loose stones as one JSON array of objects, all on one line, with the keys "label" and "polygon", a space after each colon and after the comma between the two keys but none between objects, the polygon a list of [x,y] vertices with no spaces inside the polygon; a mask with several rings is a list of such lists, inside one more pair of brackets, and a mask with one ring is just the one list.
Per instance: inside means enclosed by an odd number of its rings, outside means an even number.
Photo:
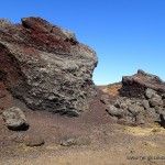
[{"label": "dusty brown and tan ground around the loose stones", "polygon": [[[7,92],[7,91],[6,91]],[[29,110],[9,94],[0,99],[1,109],[21,107],[30,123],[25,132],[9,131],[0,116],[0,165],[163,165],[165,129],[153,123],[143,127],[117,124],[99,97],[90,111],[79,118]],[[45,144],[30,147],[26,135],[42,136]],[[86,145],[61,146],[64,136],[86,136]]]}]

